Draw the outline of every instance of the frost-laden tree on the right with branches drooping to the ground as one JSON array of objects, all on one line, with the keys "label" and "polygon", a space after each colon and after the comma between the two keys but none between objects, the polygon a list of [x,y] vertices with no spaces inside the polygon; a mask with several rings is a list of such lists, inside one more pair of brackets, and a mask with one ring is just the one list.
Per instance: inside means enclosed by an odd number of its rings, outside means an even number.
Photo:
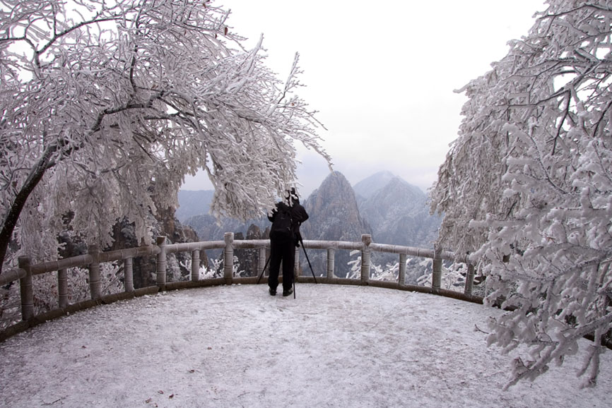
[{"label": "frost-laden tree on the right with branches drooping to the ground", "polygon": [[509,384],[590,334],[579,374],[591,385],[612,327],[612,2],[546,3],[529,35],[461,90],[432,210],[444,214],[439,244],[471,253],[488,302],[514,309],[489,338],[529,347]]}]

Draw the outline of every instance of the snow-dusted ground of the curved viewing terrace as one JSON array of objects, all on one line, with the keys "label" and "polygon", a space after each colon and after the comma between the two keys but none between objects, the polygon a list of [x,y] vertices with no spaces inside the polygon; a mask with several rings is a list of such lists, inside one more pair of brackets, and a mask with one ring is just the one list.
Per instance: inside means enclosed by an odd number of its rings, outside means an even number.
[{"label": "snow-dusted ground of the curved viewing terrace", "polygon": [[[264,284],[166,292],[54,320],[0,343],[2,407],[609,407],[580,356],[503,391],[486,347],[501,311],[374,287]],[[478,329],[477,329],[478,328]],[[584,345],[589,342],[584,340]]]}]

